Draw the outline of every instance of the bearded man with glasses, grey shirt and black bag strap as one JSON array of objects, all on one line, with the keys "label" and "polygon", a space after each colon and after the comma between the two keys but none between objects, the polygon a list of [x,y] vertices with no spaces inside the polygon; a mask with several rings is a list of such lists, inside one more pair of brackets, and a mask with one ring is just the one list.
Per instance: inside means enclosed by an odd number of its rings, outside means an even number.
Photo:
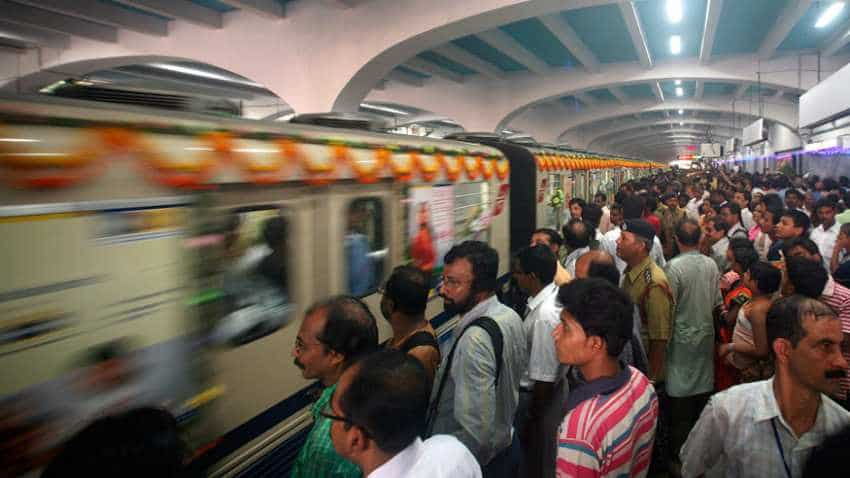
[{"label": "bearded man with glasses, grey shirt and black bag strap", "polygon": [[443,348],[428,415],[428,434],[453,435],[475,455],[485,477],[517,475],[514,433],[519,381],[528,351],[522,320],[496,299],[499,255],[479,241],[452,247],[440,296],[460,315]]}]

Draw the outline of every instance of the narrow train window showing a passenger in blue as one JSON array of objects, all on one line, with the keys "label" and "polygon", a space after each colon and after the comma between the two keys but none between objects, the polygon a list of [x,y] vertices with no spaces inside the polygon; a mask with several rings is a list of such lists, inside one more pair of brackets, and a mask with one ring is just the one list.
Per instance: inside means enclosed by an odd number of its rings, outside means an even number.
[{"label": "narrow train window showing a passenger in blue", "polygon": [[387,258],[384,207],[378,198],[358,198],[348,206],[345,229],[346,290],[371,294],[384,275]]}]

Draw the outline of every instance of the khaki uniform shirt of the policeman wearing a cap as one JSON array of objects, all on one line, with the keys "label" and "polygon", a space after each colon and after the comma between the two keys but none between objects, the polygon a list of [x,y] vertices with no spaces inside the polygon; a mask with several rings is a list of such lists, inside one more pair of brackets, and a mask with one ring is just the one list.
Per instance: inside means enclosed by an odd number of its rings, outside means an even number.
[{"label": "khaki uniform shirt of the policeman wearing a cap", "polygon": [[643,303],[646,317],[641,314],[641,338],[645,350],[649,350],[650,340],[670,340],[673,334],[674,303],[664,292],[665,289],[669,291],[670,285],[664,271],[649,257],[636,267],[627,268],[623,277],[623,290],[629,294],[638,310],[647,288],[650,291]]}]

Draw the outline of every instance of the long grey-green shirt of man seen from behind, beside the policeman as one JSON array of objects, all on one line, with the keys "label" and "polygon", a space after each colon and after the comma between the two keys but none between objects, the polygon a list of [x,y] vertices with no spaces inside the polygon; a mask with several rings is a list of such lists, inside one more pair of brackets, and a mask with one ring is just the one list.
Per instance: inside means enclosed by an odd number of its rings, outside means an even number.
[{"label": "long grey-green shirt of man seen from behind, beside the policeman", "polygon": [[664,269],[676,301],[673,336],[667,346],[667,394],[689,397],[714,389],[714,316],[723,302],[720,271],[697,251],[682,253]]}]

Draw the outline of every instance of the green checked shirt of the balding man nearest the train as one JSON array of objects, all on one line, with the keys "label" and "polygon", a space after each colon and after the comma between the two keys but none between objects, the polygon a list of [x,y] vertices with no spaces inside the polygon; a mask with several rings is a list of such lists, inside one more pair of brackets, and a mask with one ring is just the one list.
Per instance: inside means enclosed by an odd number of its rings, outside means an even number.
[{"label": "green checked shirt of the balding man nearest the train", "polygon": [[331,401],[336,384],[326,388],[313,405],[313,429],[292,466],[291,478],[360,478],[360,468],[339,456],[331,442],[330,418],[319,414]]}]

